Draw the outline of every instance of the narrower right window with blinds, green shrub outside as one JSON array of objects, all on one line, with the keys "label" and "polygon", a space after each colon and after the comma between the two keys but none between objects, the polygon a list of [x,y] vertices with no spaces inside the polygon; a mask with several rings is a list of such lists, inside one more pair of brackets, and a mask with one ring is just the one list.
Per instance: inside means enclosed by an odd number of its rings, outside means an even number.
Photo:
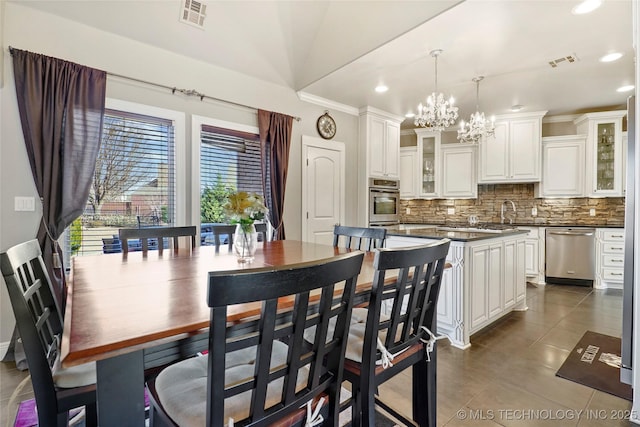
[{"label": "narrower right window with blinds, green shrub outside", "polygon": [[202,125],[200,128],[201,244],[211,243],[209,227],[228,222],[223,205],[234,191],[262,192],[257,133]]}]

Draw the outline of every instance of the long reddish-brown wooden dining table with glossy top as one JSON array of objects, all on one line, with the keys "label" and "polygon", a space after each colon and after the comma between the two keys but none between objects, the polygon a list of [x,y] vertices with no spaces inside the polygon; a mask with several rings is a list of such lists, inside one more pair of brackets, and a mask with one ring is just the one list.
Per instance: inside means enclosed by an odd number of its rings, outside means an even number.
[{"label": "long reddish-brown wooden dining table with glossy top", "polygon": [[[238,263],[226,248],[216,251],[213,246],[162,254],[149,251],[76,257],[67,295],[62,365],[96,362],[101,427],[143,426],[145,369],[149,368],[145,354],[167,343],[206,337],[210,316],[206,303],[209,272],[294,266],[347,251],[280,240],[265,243],[258,249],[255,260],[245,264]],[[358,276],[356,298],[363,301],[374,276],[373,260],[373,253],[365,254]],[[258,310],[255,304],[234,306],[228,321],[231,325],[241,323]],[[206,345],[206,338],[202,342]],[[421,369],[421,378],[414,378],[414,392],[415,387],[424,386],[423,382],[435,390],[435,357]],[[414,412],[426,411],[426,405],[416,406]],[[418,416],[426,417],[426,413]],[[435,412],[429,416],[435,421]]]}]

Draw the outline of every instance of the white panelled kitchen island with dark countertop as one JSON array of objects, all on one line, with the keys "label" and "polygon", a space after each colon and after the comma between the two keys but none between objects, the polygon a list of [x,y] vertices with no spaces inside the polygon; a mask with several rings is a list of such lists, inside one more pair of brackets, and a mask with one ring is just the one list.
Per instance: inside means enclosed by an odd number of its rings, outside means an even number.
[{"label": "white panelled kitchen island with dark countertop", "polygon": [[458,348],[470,336],[513,310],[526,310],[525,238],[527,230],[429,225],[387,228],[386,247],[451,240],[438,298],[438,334]]}]

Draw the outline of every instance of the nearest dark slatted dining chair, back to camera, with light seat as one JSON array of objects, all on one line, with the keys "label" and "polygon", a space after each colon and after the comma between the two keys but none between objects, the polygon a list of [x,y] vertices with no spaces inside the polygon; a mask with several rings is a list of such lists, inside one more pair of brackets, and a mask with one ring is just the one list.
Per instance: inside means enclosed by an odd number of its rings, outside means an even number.
[{"label": "nearest dark slatted dining chair, back to camera, with light seat", "polygon": [[[293,267],[209,273],[208,360],[172,365],[148,383],[151,425],[158,419],[182,425],[186,415],[180,408],[197,407],[197,396],[206,394],[206,413],[191,419],[194,425],[222,427],[233,414],[236,426],[302,425],[305,404],[317,404],[318,396],[325,395],[323,425],[337,426],[347,331],[363,258],[357,251]],[[229,311],[249,303],[259,303],[255,319],[230,335]],[[311,327],[315,339],[307,343],[304,331]],[[239,362],[244,359],[246,366]],[[206,372],[206,388],[185,395],[181,390],[192,390],[193,384],[184,382],[193,380],[184,379],[184,372],[193,374],[196,366]],[[224,380],[238,369],[246,369],[244,376]],[[170,388],[179,398],[169,394]]]}]

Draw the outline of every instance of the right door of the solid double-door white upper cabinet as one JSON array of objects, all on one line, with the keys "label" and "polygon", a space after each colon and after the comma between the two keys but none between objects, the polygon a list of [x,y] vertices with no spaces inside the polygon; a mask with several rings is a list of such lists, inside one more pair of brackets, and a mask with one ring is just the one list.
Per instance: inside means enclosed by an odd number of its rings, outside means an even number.
[{"label": "right door of the solid double-door white upper cabinet", "polygon": [[538,119],[509,123],[509,175],[514,181],[540,180],[540,124]]}]

